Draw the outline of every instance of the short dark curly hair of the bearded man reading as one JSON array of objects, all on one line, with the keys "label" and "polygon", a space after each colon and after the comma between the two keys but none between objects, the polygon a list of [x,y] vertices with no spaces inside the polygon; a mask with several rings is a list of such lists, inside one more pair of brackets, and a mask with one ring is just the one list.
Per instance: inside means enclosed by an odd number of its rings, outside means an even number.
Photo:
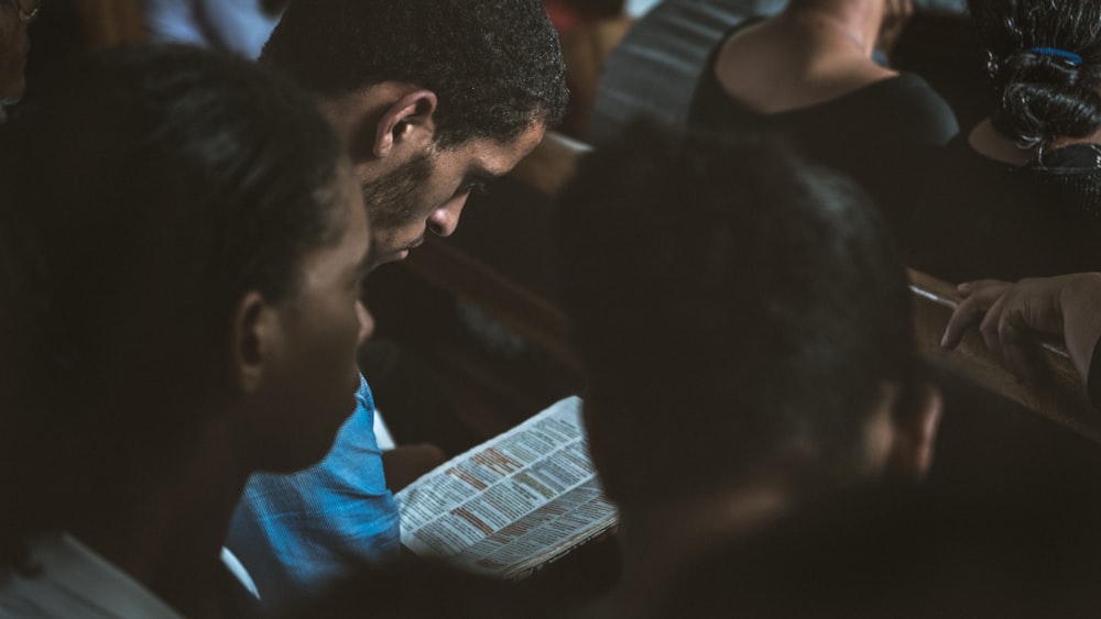
[{"label": "short dark curly hair of the bearded man reading", "polygon": [[568,98],[539,0],[295,0],[260,59],[326,98],[388,80],[433,90],[442,147],[556,125]]}]

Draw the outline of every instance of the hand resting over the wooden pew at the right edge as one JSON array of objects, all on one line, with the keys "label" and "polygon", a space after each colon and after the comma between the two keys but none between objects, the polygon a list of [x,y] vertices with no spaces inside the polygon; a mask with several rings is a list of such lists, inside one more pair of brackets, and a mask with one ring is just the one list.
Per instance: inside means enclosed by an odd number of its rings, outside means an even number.
[{"label": "hand resting over the wooden pew at the right edge", "polygon": [[942,346],[955,347],[963,333],[979,323],[986,347],[1001,356],[1014,375],[1034,384],[1036,371],[1028,346],[1035,344],[1036,334],[1060,336],[1086,382],[1093,345],[1101,335],[1101,274],[1016,284],[985,279],[960,284],[958,290],[963,301],[948,321]]}]

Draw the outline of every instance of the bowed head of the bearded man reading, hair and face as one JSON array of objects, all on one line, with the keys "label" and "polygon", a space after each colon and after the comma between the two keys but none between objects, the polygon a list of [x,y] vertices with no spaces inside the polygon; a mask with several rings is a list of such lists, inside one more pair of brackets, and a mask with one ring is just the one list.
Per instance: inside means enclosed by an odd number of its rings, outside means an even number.
[{"label": "bowed head of the bearded man reading, hair and face", "polygon": [[379,262],[458,225],[471,189],[565,112],[565,64],[539,0],[291,2],[261,62],[318,97],[347,142]]}]

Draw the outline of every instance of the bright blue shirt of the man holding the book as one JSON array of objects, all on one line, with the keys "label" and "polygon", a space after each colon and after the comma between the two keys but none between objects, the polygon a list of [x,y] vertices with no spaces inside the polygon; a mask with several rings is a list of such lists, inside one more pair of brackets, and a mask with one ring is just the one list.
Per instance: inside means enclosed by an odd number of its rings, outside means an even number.
[{"label": "bright blue shirt of the man holding the book", "polygon": [[374,438],[374,399],[360,377],[356,412],[320,463],[290,475],[257,473],[233,513],[226,545],[265,606],[317,593],[355,562],[396,559],[397,506]]}]

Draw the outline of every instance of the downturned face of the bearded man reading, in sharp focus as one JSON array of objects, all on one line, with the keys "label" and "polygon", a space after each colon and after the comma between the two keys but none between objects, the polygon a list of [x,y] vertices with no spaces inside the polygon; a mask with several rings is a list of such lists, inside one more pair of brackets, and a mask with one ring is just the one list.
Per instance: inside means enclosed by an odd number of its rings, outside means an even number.
[{"label": "downturned face of the bearded man reading, in sharp focus", "polygon": [[545,132],[537,124],[504,144],[476,137],[446,150],[430,147],[381,177],[370,165],[357,166],[377,264],[405,258],[429,231],[455,232],[471,189],[511,170]]}]

